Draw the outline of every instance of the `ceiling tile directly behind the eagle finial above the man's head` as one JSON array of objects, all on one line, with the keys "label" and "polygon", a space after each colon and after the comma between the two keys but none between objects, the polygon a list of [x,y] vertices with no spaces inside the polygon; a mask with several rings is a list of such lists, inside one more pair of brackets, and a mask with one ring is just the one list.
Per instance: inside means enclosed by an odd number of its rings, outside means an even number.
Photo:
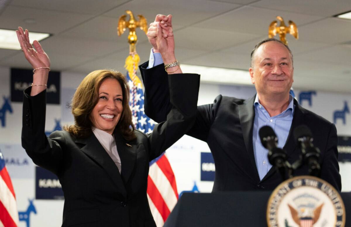
[{"label": "ceiling tile directly behind the eagle finial above the man's head", "polygon": [[194,26],[258,35],[267,34],[268,36],[269,24],[273,20],[276,20],[277,15],[282,16],[285,20],[294,21],[297,26],[321,19],[320,16],[310,16],[291,12],[277,12],[270,9],[244,6],[220,16],[216,16],[212,19],[203,21]]}]

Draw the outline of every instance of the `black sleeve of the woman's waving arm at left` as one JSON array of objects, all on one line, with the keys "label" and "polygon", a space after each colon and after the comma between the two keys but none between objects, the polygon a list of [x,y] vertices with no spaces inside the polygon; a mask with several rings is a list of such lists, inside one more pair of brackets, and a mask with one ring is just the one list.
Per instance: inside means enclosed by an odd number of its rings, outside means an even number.
[{"label": "black sleeve of the woman's waving arm at left", "polygon": [[[31,87],[24,91],[22,116],[22,147],[35,164],[58,174],[62,162],[65,138],[62,132],[45,135],[46,90],[30,96]],[[61,145],[60,145],[61,144]]]}]

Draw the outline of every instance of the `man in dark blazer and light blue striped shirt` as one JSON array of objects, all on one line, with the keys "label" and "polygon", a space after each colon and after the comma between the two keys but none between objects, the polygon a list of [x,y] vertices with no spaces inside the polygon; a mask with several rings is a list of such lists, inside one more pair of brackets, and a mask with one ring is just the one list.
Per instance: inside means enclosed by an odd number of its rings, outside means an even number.
[{"label": "man in dark blazer and light blue striped shirt", "polygon": [[[170,110],[165,71],[182,73],[174,56],[172,16],[157,15],[148,39],[155,61],[160,52],[164,64],[146,62],[140,66],[145,84],[145,112],[160,122]],[[309,127],[313,143],[321,151],[320,178],[340,191],[336,127],[301,107],[289,94],[293,82],[289,47],[276,39],[259,42],[251,53],[249,73],[257,95],[247,100],[218,95],[213,104],[198,106],[196,123],[187,133],[207,142],[211,149],[216,166],[213,192],[272,190],[282,182],[268,163],[267,149],[259,141],[258,130],[264,125],[276,131],[278,146],[287,152],[290,163],[301,154],[292,132],[299,125]],[[294,171],[294,175],[308,175],[307,166]]]}]

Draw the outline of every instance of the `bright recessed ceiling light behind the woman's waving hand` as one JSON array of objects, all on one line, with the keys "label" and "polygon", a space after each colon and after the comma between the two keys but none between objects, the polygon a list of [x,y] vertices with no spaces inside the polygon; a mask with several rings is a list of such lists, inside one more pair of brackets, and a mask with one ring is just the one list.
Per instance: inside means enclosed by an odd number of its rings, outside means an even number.
[{"label": "bright recessed ceiling light behind the woman's waving hand", "polygon": [[[48,33],[39,33],[39,32],[29,32],[29,37],[31,41],[33,40],[43,40],[49,37]],[[21,46],[18,43],[18,38],[15,30],[0,29],[0,48],[1,49],[14,49],[20,50]]]}]

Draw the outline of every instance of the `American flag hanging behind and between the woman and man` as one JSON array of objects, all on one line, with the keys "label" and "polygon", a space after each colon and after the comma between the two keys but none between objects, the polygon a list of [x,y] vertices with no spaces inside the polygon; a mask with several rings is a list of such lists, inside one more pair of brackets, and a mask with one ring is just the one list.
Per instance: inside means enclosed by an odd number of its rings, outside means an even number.
[{"label": "American flag hanging behind and between the woman and man", "polygon": [[[130,88],[133,124],[140,131],[151,133],[155,122],[144,113],[144,92],[140,80],[135,77],[136,74],[132,76],[133,82],[127,72],[126,78]],[[165,152],[150,162],[147,178],[147,198],[156,225],[158,227],[163,226],[178,201],[176,178]]]}]

